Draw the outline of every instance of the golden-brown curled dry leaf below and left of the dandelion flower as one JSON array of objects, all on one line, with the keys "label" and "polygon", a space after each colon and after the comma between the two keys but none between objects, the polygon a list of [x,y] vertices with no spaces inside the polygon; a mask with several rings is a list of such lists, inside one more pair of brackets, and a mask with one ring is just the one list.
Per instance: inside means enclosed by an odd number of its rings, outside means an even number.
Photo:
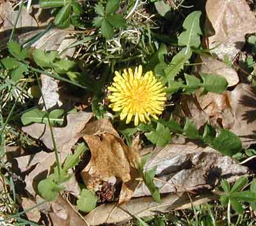
[{"label": "golden-brown curled dry leaf below and left of the dandelion flower", "polygon": [[135,145],[138,141],[132,147],[126,146],[106,119],[88,123],[81,134],[92,152],[90,162],[81,173],[87,187],[97,191],[103,181],[115,176],[124,183],[120,202],[131,199],[140,161],[138,145]]}]

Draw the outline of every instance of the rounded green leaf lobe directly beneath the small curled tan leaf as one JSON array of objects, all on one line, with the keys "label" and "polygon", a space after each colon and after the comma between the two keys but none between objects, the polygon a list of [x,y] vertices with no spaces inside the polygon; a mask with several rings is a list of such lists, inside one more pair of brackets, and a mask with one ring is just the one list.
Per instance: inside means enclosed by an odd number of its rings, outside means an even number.
[{"label": "rounded green leaf lobe directly beneath the small curled tan leaf", "polygon": [[200,73],[200,76],[204,81],[204,92],[223,93],[228,87],[227,80],[220,75]]}]

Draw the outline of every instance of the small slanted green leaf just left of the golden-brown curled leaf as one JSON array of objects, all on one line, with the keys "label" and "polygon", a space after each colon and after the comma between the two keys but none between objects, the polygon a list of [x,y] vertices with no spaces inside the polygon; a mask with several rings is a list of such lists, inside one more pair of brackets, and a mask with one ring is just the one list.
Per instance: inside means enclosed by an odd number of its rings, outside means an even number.
[{"label": "small slanted green leaf just left of the golden-brown curled leaf", "polygon": [[80,161],[80,156],[87,150],[87,147],[85,146],[84,143],[81,143],[77,146],[76,151],[74,154],[68,154],[65,162],[63,163],[63,171],[67,171],[68,169],[72,169],[75,167],[79,161]]}]

